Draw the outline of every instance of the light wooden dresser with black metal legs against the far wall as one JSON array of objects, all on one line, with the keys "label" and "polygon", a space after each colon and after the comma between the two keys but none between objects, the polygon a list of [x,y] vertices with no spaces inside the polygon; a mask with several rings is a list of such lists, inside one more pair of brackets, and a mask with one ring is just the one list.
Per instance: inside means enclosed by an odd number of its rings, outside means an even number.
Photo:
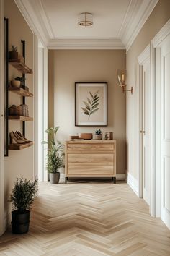
[{"label": "light wooden dresser with black metal legs against the far wall", "polygon": [[112,178],[116,182],[115,140],[66,140],[66,182],[68,178]]}]

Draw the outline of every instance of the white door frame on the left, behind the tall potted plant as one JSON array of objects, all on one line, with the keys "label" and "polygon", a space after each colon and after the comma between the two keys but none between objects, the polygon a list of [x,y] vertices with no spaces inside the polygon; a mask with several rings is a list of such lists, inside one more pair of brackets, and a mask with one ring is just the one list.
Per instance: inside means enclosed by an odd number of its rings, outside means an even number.
[{"label": "white door frame on the left, behind the tall potted plant", "polygon": [[[42,101],[43,106],[40,109],[38,107],[38,98],[40,94],[40,81],[38,75],[39,69],[39,49],[42,48]],[[46,155],[47,148],[45,145],[41,145],[42,140],[47,140],[45,137],[45,129],[48,129],[48,48],[40,43],[40,39],[34,34],[34,176],[38,178],[39,182],[48,181],[48,174],[46,168]],[[41,123],[39,118],[41,116]],[[39,140],[39,130],[42,132],[42,140]],[[39,154],[42,155],[42,168],[39,164]]]}]

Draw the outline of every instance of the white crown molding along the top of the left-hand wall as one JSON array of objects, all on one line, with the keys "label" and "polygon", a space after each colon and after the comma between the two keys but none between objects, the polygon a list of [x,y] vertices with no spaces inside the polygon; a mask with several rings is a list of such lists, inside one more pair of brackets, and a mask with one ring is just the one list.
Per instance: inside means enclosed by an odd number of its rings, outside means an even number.
[{"label": "white crown molding along the top of the left-hand wall", "polygon": [[45,30],[45,26],[42,25],[42,22],[38,20],[38,12],[36,12],[36,9],[32,7],[29,0],[14,0],[14,2],[17,4],[19,11],[22,13],[32,33],[37,35],[37,38],[41,40],[43,46],[47,46],[49,40],[48,33]]}]

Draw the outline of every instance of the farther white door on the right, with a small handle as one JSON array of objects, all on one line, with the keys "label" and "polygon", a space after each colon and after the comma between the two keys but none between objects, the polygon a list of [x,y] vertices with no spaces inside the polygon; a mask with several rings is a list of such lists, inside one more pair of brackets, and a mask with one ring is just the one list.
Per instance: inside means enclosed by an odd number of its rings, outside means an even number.
[{"label": "farther white door on the right, with a small handle", "polygon": [[140,197],[151,205],[151,70],[149,46],[140,64]]}]

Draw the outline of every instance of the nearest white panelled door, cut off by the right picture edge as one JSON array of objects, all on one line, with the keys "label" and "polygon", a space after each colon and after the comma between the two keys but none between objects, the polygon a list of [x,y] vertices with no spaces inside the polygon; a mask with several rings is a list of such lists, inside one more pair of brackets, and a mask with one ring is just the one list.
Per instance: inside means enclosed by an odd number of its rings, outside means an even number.
[{"label": "nearest white panelled door, cut off by the right picture edge", "polygon": [[161,43],[161,218],[170,229],[170,35]]}]

